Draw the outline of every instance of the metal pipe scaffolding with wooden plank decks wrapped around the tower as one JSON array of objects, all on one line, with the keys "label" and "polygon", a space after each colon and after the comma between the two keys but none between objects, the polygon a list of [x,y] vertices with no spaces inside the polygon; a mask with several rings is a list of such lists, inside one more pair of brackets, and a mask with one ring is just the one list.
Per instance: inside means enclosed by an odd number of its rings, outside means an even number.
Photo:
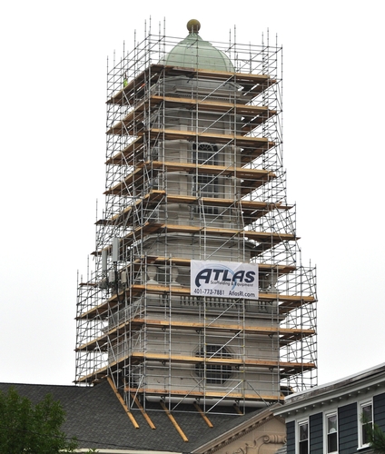
[{"label": "metal pipe scaffolding with wooden plank decks wrapped around the tower", "polygon": [[[162,399],[217,412],[317,384],[316,275],[282,166],[281,47],[212,42],[224,71],[202,68],[195,42],[196,64],[170,64],[181,38],[150,31],[107,68],[105,210],[78,284],[75,381],[108,377],[131,410]],[[258,263],[258,300],[192,295],[192,260]]]}]

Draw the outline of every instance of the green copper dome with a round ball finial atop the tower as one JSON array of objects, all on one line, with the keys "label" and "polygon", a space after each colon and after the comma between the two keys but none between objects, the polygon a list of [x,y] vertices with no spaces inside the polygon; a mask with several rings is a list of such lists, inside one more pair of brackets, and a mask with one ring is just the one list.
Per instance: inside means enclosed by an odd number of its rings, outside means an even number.
[{"label": "green copper dome with a round ball finial atop the tower", "polygon": [[212,69],[214,71],[234,71],[230,58],[198,35],[201,24],[192,19],[187,28],[190,35],[176,44],[165,56],[164,64],[183,68]]}]

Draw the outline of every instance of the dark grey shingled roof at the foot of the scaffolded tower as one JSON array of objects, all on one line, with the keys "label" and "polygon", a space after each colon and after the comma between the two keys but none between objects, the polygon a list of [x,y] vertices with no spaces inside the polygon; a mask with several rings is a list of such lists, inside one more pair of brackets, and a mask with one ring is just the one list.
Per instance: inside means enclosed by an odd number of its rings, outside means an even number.
[{"label": "dark grey shingled roof at the foot of the scaffolded tower", "polygon": [[79,447],[84,449],[204,452],[205,445],[212,440],[223,442],[226,432],[233,433],[237,427],[244,431],[248,423],[252,426],[255,420],[266,418],[266,409],[252,409],[239,415],[232,407],[222,407],[221,414],[208,415],[213,426],[210,428],[193,405],[178,405],[172,414],[187,437],[186,442],[158,402],[146,406],[156,429],[150,428],[139,410],[133,410],[133,416],[139,424],[139,429],[135,429],[106,381],[86,388],[0,383],[0,390],[6,391],[11,386],[33,403],[44,399],[46,394],[51,394],[54,400],[60,400],[66,412],[62,429],[68,437],[75,436]]}]

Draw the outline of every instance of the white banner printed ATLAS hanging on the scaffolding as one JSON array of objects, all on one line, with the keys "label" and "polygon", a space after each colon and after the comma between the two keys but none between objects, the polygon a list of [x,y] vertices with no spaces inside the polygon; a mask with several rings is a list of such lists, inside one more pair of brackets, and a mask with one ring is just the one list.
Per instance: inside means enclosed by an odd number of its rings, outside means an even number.
[{"label": "white banner printed ATLAS hanging on the scaffolding", "polygon": [[191,262],[191,294],[258,300],[258,264],[242,262]]}]

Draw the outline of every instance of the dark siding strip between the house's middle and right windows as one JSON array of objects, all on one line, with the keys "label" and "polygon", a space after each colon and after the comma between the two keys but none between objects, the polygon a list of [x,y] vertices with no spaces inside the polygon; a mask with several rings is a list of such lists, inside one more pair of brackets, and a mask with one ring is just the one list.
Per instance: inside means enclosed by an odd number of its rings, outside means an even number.
[{"label": "dark siding strip between the house's middle and right windows", "polygon": [[351,454],[358,448],[357,402],[338,409],[339,453]]}]

